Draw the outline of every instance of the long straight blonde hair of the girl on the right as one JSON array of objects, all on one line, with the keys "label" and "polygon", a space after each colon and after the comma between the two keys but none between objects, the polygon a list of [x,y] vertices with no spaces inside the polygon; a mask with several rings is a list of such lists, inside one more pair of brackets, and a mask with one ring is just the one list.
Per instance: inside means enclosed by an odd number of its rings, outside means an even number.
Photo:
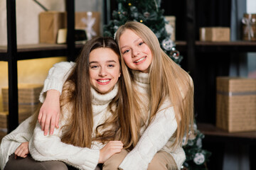
[{"label": "long straight blonde hair of the girl on the right", "polygon": [[[117,44],[119,38],[125,30],[132,30],[149,46],[153,60],[149,68],[149,107],[150,121],[159,111],[159,107],[164,102],[166,97],[171,100],[171,105],[174,106],[176,121],[178,124],[177,130],[172,137],[175,137],[174,146],[181,145],[183,136],[188,135],[190,127],[193,127],[193,81],[189,74],[185,72],[178,64],[176,64],[166,53],[161,50],[159,40],[156,35],[144,24],[129,21],[123,26],[120,26],[116,33]],[[121,54],[122,55],[122,54]],[[142,122],[142,113],[139,113],[139,96],[134,89],[135,81],[131,69],[125,64],[121,57],[122,74],[124,76],[125,85],[127,87],[127,100],[130,108],[130,124],[131,137],[133,145],[136,145],[139,138],[139,129]],[[192,126],[191,126],[192,125]]]}]

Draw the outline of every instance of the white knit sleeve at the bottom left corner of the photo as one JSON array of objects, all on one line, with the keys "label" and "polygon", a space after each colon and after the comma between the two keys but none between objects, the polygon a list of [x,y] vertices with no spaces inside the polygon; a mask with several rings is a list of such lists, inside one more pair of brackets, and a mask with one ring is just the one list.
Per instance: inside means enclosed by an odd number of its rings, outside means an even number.
[{"label": "white knit sleeve at the bottom left corner of the photo", "polygon": [[9,156],[13,154],[19,145],[23,142],[28,142],[31,139],[33,130],[31,130],[29,123],[32,120],[32,116],[23,121],[18,127],[6,135],[1,140],[0,145],[0,164],[1,169],[9,160]]}]

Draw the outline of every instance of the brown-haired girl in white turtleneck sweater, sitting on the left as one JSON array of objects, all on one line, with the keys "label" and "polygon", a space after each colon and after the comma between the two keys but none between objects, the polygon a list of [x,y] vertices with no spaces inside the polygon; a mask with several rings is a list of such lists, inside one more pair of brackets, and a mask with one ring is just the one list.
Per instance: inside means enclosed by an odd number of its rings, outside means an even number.
[{"label": "brown-haired girl in white turtleneck sweater, sitting on the left", "polygon": [[38,115],[25,120],[1,142],[1,169],[94,170],[130,145],[129,128],[119,121],[127,119],[128,114],[122,100],[124,81],[114,39],[88,41],[76,62],[68,65],[71,67],[65,70],[58,101],[60,128],[52,135],[43,135],[36,123]]}]

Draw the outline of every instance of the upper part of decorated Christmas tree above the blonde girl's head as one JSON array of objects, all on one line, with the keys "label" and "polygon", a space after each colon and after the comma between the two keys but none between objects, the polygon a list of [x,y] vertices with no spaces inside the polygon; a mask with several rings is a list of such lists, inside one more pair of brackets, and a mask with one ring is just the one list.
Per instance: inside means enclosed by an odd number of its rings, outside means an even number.
[{"label": "upper part of decorated Christmas tree above the blonde girl's head", "polygon": [[182,57],[175,49],[171,35],[166,32],[164,10],[160,8],[160,0],[117,0],[118,8],[112,13],[112,21],[104,26],[104,35],[114,37],[119,26],[127,21],[138,21],[148,26],[159,39],[161,48],[179,64]]}]

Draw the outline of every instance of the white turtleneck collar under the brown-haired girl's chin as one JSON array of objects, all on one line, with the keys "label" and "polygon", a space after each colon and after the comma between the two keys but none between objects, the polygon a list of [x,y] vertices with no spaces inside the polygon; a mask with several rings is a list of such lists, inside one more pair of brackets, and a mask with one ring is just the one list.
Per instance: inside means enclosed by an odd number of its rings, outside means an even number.
[{"label": "white turtleneck collar under the brown-haired girl's chin", "polygon": [[105,105],[112,101],[117,96],[118,84],[114,85],[114,89],[107,94],[99,94],[95,89],[91,88],[92,92],[92,104],[94,105]]}]

